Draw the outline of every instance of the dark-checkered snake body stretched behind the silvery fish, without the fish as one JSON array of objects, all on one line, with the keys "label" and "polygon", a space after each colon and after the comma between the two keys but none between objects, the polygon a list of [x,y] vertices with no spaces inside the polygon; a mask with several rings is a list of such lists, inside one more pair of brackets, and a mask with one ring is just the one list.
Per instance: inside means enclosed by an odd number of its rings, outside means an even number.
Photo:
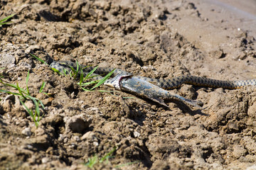
[{"label": "dark-checkered snake body stretched behind the silvery fish, without the fish", "polygon": [[[69,61],[60,61],[60,62],[52,62],[50,67],[63,70],[69,69],[73,67],[76,69],[77,64],[75,62]],[[94,67],[85,67],[80,65],[80,68],[84,68],[83,72],[90,72]],[[113,69],[109,67],[98,67],[95,70],[95,74],[104,75],[111,72]],[[113,77],[117,76],[118,74],[129,74],[128,72],[124,72],[121,69],[115,69],[114,73],[112,74]],[[162,89],[175,89],[181,86],[182,84],[192,84],[196,86],[208,86],[213,88],[223,88],[223,89],[239,89],[243,86],[256,86],[256,79],[250,80],[240,80],[240,81],[223,81],[223,80],[216,80],[216,79],[208,79],[206,77],[196,77],[191,75],[183,75],[180,77],[174,77],[173,79],[151,79],[148,77],[139,77],[136,76],[138,79],[142,79],[144,81],[149,81],[156,86],[161,87]],[[101,79],[102,77],[95,77],[96,79]]]}]

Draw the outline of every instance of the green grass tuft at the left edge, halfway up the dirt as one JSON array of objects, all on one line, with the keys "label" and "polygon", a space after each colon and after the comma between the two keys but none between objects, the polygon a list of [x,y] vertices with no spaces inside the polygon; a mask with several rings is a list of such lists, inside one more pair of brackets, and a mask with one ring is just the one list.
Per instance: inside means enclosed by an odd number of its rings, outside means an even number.
[{"label": "green grass tuft at the left edge, halfway up the dirt", "polygon": [[[38,127],[39,121],[41,120],[40,106],[43,109],[44,109],[44,106],[43,106],[42,101],[40,101],[38,98],[31,96],[31,94],[28,90],[28,79],[29,79],[29,71],[28,71],[28,74],[26,77],[26,89],[22,89],[20,86],[18,86],[18,83],[17,84],[8,84],[8,83],[4,83],[4,81],[2,79],[0,79],[1,84],[3,84],[4,86],[9,86],[11,88],[14,88],[14,89],[16,89],[16,91],[18,91],[18,92],[12,92],[12,91],[0,89],[0,92],[18,96],[19,101],[21,101],[21,104],[24,106],[24,108],[26,109],[28,114],[31,115],[31,118],[33,118],[33,121],[34,121],[36,127]],[[41,85],[39,93],[42,93],[44,86],[46,86],[45,82],[43,82],[43,84]],[[29,109],[25,105],[25,103],[23,103],[23,101],[28,101],[28,100],[33,101],[33,103],[35,105],[35,113],[33,113],[33,109]]]}]

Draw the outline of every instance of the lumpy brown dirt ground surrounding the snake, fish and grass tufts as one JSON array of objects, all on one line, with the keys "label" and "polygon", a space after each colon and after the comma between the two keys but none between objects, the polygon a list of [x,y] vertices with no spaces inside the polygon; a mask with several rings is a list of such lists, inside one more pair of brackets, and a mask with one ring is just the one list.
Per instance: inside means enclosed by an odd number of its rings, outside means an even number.
[{"label": "lumpy brown dirt ground surrounding the snake, fish and grass tufts", "polygon": [[[183,85],[171,91],[205,109],[167,109],[107,86],[97,90],[115,95],[82,91],[28,55],[144,77],[256,79],[256,2],[238,2],[0,1],[0,19],[16,13],[0,28],[1,75],[26,88],[29,71],[46,106],[36,128],[17,96],[0,94],[0,169],[88,169],[114,147],[95,169],[256,169],[255,86]],[[43,81],[50,96],[38,93]]]}]

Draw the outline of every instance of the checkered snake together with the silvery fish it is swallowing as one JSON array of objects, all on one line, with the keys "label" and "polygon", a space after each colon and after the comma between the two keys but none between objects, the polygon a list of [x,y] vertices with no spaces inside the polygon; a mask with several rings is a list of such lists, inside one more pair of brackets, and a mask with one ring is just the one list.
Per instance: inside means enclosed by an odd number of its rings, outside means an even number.
[{"label": "checkered snake together with the silvery fish it is swallowing", "polygon": [[[60,72],[63,70],[68,70],[70,68],[78,69],[80,67],[82,72],[90,72],[95,67],[85,67],[84,65],[79,65],[76,62],[70,61],[53,61],[50,67],[57,69]],[[93,75],[96,75],[95,79],[102,79],[102,76],[111,72],[113,69],[111,67],[97,67]],[[239,81],[228,81],[228,80],[218,80],[209,79],[206,77],[196,77],[192,75],[181,75],[180,77],[174,77],[172,79],[153,79],[149,77],[134,76],[129,72],[125,72],[122,69],[114,69],[112,74],[112,79],[108,80],[105,84],[107,86],[112,86],[115,89],[121,91],[127,91],[129,93],[135,94],[137,96],[142,96],[151,99],[162,106],[166,106],[163,99],[173,99],[176,101],[182,101],[189,106],[196,106],[201,108],[202,103],[200,101],[193,101],[187,98],[183,98],[176,94],[172,94],[167,89],[176,89],[182,84],[191,84],[195,86],[207,86],[212,88],[223,88],[223,89],[239,89],[243,86],[256,86],[256,79],[250,80],[239,80]],[[168,106],[167,106],[168,107]]]}]

